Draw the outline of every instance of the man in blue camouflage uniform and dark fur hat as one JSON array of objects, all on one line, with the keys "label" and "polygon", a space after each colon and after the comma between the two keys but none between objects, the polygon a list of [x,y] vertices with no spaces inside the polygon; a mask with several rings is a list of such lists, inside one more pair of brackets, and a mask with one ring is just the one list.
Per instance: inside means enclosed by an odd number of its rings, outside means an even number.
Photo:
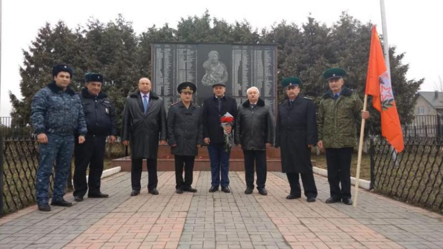
[{"label": "man in blue camouflage uniform and dark fur hat", "polygon": [[85,115],[78,95],[69,87],[72,69],[64,64],[52,68],[53,81],[39,90],[31,105],[32,126],[40,143],[39,167],[36,177],[36,198],[40,211],[50,211],[49,176],[54,160],[54,191],[51,205],[72,206],[63,199],[71,170],[74,133],[78,143],[85,142],[87,133]]}]

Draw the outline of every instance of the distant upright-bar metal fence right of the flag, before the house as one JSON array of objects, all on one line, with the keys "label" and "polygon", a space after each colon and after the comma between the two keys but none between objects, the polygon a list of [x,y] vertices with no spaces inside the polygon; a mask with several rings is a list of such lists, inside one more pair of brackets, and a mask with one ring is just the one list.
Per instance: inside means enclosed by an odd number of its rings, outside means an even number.
[{"label": "distant upright-bar metal fence right of the flag, before the house", "polygon": [[412,122],[402,126],[404,136],[443,137],[443,116],[415,115]]}]

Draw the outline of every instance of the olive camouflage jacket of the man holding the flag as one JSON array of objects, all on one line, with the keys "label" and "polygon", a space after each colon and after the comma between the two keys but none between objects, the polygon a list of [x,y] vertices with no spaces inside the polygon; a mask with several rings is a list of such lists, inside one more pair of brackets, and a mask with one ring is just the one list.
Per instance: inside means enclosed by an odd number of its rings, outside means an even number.
[{"label": "olive camouflage jacket of the man holding the flag", "polygon": [[330,90],[322,98],[317,114],[318,140],[325,148],[355,147],[362,100],[346,87],[338,99]]}]

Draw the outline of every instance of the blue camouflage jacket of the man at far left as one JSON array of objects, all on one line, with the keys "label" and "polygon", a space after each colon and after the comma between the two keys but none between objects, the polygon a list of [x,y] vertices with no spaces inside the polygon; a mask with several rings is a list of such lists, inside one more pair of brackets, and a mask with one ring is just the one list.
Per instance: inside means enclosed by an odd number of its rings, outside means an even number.
[{"label": "blue camouflage jacket of the man at far left", "polygon": [[63,91],[54,81],[34,95],[31,120],[36,134],[87,133],[80,97],[69,86]]}]

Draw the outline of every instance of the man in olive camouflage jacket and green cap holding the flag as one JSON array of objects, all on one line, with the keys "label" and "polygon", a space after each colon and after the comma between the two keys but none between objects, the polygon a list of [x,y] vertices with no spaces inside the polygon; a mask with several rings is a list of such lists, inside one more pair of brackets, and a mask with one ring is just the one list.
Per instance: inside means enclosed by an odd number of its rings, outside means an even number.
[{"label": "man in olive camouflage jacket and green cap holding the flag", "polygon": [[[369,119],[356,93],[343,86],[346,72],[331,68],[323,73],[329,90],[320,101],[317,114],[318,147],[325,148],[330,198],[326,203],[351,200],[351,157],[356,145],[357,120]],[[361,115],[361,117],[360,117]],[[341,185],[341,189],[340,189]]]}]

